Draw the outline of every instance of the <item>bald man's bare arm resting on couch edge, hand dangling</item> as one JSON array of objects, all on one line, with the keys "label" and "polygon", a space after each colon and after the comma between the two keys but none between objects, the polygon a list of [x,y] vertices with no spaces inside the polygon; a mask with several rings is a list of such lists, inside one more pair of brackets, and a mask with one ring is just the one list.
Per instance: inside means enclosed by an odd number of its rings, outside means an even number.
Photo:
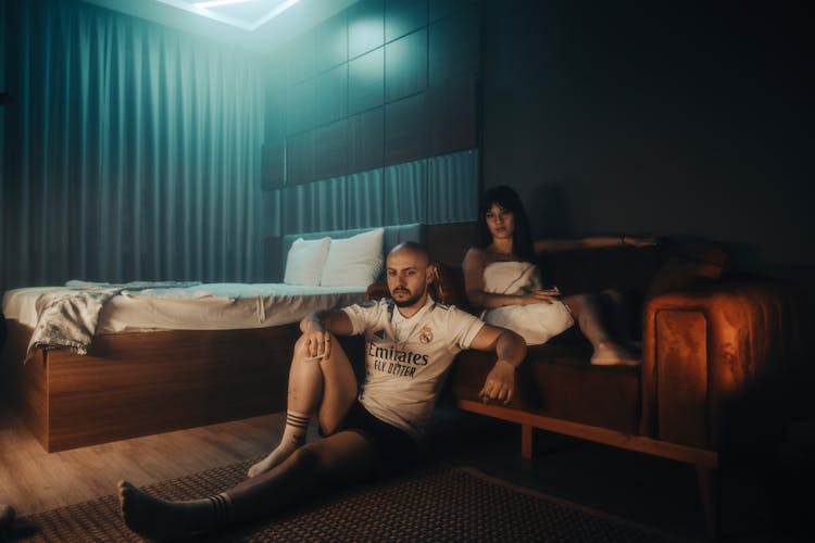
[{"label": "bald man's bare arm resting on couch edge, hand dangling", "polygon": [[515,393],[515,369],[526,357],[524,338],[505,328],[484,325],[469,346],[498,355],[498,362],[487,375],[478,393],[481,401],[487,403],[490,400],[499,400],[504,404],[510,403]]}]

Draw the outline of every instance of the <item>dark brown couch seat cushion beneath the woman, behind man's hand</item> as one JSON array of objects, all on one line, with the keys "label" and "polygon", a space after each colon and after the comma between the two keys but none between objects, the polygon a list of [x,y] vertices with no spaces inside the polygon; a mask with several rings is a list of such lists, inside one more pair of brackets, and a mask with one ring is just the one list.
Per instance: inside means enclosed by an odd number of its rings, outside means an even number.
[{"label": "dark brown couch seat cushion beneath the woman, behind man's hand", "polygon": [[[509,407],[627,433],[638,433],[640,369],[592,366],[588,342],[529,348],[518,368],[518,391]],[[480,401],[478,392],[496,364],[494,354],[463,351],[450,376],[456,400]]]}]

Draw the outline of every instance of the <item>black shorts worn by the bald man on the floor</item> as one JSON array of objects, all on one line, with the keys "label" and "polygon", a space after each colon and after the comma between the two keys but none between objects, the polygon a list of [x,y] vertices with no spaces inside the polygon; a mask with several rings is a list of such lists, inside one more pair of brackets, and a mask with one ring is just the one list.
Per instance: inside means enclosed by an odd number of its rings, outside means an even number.
[{"label": "black shorts worn by the bald man on the floor", "polygon": [[359,400],[351,404],[340,430],[356,432],[371,443],[380,467],[393,460],[412,464],[418,457],[418,444],[408,432],[376,418]]}]

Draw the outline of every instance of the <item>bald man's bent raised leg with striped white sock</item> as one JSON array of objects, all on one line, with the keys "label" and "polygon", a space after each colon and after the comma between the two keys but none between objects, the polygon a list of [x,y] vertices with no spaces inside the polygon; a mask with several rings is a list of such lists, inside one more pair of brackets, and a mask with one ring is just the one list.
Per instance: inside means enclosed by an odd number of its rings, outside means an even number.
[{"label": "bald man's bent raised leg with striped white sock", "polygon": [[265,458],[249,468],[249,477],[268,471],[297,451],[305,442],[309,420],[315,413],[326,433],[339,427],[356,397],[356,377],[335,337],[331,337],[331,354],[319,361],[309,361],[304,336],[294,344],[283,439]]}]

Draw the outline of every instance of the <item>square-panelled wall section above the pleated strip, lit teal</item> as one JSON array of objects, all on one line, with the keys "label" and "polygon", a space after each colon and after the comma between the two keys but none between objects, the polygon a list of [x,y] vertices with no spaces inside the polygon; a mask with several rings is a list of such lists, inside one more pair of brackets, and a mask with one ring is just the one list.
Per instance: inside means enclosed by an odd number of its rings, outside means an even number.
[{"label": "square-panelled wall section above the pleated strip, lit teal", "polygon": [[361,0],[267,62],[274,190],[472,149],[476,0]]}]

